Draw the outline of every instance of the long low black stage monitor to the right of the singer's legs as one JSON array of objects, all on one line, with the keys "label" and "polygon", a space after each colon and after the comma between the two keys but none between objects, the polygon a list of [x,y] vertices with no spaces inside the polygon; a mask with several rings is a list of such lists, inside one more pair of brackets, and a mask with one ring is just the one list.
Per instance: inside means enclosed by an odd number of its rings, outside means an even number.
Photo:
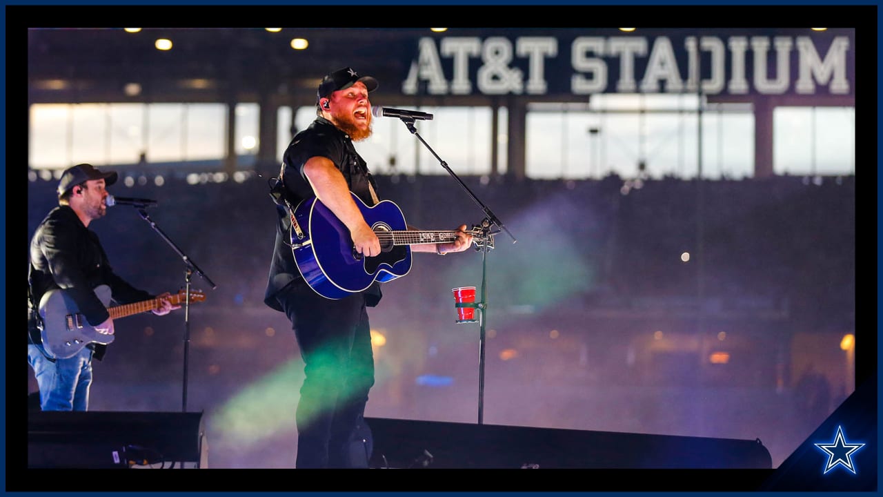
[{"label": "long low black stage monitor to the right of the singer's legs", "polygon": [[771,469],[760,440],[366,417],[371,468]]}]

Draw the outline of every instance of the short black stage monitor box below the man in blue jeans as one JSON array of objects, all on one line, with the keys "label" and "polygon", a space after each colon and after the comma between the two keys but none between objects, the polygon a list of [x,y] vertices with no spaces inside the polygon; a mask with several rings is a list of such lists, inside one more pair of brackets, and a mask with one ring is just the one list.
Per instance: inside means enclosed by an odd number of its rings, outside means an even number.
[{"label": "short black stage monitor box below the man in blue jeans", "polygon": [[200,412],[36,411],[28,468],[208,468]]}]

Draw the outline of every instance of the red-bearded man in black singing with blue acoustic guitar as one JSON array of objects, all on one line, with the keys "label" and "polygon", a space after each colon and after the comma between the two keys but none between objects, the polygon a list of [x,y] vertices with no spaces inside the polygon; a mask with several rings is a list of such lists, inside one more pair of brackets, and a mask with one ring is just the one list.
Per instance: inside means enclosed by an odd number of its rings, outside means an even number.
[{"label": "red-bearded man in black singing with blue acoustic guitar", "polygon": [[404,218],[371,218],[390,204],[379,200],[352,142],[371,135],[368,93],[377,86],[350,67],[325,76],[316,95],[317,117],[291,140],[278,182],[271,185],[279,218],[265,302],[291,320],[305,363],[295,415],[296,468],[366,467],[366,460],[351,457],[374,385],[366,307],[381,300],[380,282],[410,269],[411,249],[444,255],[472,245],[472,233],[462,225],[393,250],[404,243],[396,241],[401,233],[393,233],[407,228]]}]

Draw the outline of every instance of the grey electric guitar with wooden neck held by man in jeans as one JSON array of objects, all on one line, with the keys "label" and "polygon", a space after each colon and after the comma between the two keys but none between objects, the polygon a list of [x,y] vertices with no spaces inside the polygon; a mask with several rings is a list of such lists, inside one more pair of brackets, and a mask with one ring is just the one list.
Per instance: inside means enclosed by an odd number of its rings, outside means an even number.
[{"label": "grey electric guitar with wooden neck held by man in jeans", "polygon": [[[95,287],[95,295],[107,307],[110,302],[110,287],[101,285]],[[185,290],[181,290],[177,294],[166,297],[173,305],[181,302],[187,302]],[[190,291],[189,302],[202,302],[206,300],[206,295],[197,291]],[[116,307],[108,307],[110,317],[117,319],[119,317],[132,316],[141,312],[155,310],[162,307],[162,300],[159,298],[151,299],[143,302],[133,302]],[[77,309],[77,304],[64,290],[54,289],[43,294],[40,299],[40,317],[42,317],[43,327],[41,338],[43,340],[43,348],[49,355],[58,359],[75,356],[82,348],[90,343],[100,343],[108,345],[114,340],[114,335],[98,333],[93,326],[89,325],[82,314]]]}]

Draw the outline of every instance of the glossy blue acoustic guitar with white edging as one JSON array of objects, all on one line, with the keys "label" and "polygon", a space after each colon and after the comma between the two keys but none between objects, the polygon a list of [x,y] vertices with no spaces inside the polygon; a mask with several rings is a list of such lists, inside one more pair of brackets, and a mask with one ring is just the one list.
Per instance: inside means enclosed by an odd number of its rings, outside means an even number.
[{"label": "glossy blue acoustic guitar with white edging", "polygon": [[[379,256],[359,254],[350,230],[316,197],[298,203],[291,214],[294,260],[306,283],[323,297],[341,299],[365,290],[374,281],[385,283],[403,277],[411,271],[411,245],[457,240],[456,231],[408,230],[402,210],[389,200],[368,207],[358,196],[350,195],[377,233]],[[479,236],[475,230],[467,233]]]}]

